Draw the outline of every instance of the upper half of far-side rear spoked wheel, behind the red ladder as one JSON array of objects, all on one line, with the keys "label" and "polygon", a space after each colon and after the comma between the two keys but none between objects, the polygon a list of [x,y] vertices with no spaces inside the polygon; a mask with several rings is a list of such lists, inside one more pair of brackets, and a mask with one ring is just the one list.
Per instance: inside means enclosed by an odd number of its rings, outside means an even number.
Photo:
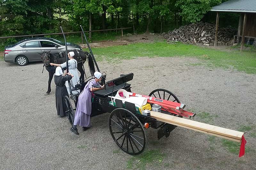
[{"label": "upper half of far-side rear spoked wheel, behind the red ladder", "polygon": [[148,96],[180,103],[180,100],[172,92],[165,89],[153,90]]}]

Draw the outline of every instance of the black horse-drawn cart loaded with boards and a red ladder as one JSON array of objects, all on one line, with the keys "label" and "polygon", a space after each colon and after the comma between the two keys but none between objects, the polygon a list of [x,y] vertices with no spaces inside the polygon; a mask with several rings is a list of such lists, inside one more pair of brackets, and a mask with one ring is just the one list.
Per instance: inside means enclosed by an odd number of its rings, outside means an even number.
[{"label": "black horse-drawn cart loaded with boards and a red ladder", "polygon": [[[98,71],[100,71],[85,34],[84,37],[90,49],[94,63],[97,66]],[[164,136],[169,137],[170,132],[177,126],[180,126],[236,142],[241,142],[239,156],[244,155],[244,145],[246,141],[244,139],[243,132],[220,128],[183,118],[194,117],[195,114],[186,111],[184,109],[186,105],[180,103],[180,100],[168,90],[156,89],[148,96],[133,93],[131,90],[132,86],[129,84],[129,81],[133,79],[133,76],[133,73],[122,74],[118,78],[105,82],[105,74],[101,84],[105,85],[104,88],[93,92],[92,97],[91,117],[107,112],[110,113],[108,118],[110,134],[118,147],[120,147],[124,152],[131,155],[138,155],[145,150],[147,143],[145,129],[157,129],[158,139],[160,139]],[[89,78],[87,78],[87,81],[85,80],[84,82],[80,82],[80,84],[76,85],[76,88],[73,88],[73,90],[83,90],[84,85],[88,81]],[[96,85],[93,86],[97,87]],[[126,100],[120,96],[117,97],[120,89],[124,89],[124,92],[128,92],[129,95],[126,97],[132,100]],[[145,107],[145,103],[142,106],[134,102],[138,98],[146,99],[147,107]],[[68,97],[65,98],[65,104],[67,106],[69,121],[73,124],[75,109],[73,109]],[[151,110],[154,104],[161,107],[158,112]],[[145,109],[151,110],[151,115],[143,114],[143,110]]]}]

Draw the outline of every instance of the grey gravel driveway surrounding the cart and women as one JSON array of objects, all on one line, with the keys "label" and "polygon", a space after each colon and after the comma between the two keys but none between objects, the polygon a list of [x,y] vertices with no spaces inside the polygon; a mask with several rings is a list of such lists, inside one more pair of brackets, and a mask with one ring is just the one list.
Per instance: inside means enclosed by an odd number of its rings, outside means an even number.
[{"label": "grey gravel driveway surrounding the cart and women", "polygon": [[132,92],[170,90],[198,113],[196,121],[248,131],[244,157],[232,152],[233,143],[181,127],[160,140],[155,129],[148,129],[145,152],[133,157],[114,143],[109,113],[93,117],[92,128],[82,132],[79,127],[76,136],[67,118],[57,116],[54,81],[51,94],[44,96],[48,72],[41,74],[42,63],[20,67],[0,61],[0,169],[256,169],[256,76],[199,62],[145,57],[98,65],[107,80],[133,72]]}]

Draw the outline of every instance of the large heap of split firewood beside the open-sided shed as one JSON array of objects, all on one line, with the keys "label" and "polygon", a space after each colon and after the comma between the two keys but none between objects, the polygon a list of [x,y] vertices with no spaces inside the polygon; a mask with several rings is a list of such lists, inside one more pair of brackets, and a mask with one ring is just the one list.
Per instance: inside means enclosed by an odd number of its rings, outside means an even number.
[{"label": "large heap of split firewood beside the open-sided shed", "polygon": [[[215,39],[215,24],[210,23],[193,23],[187,26],[181,26],[178,29],[162,33],[167,41],[180,41],[194,44],[213,45]],[[234,35],[237,30],[233,28],[219,28],[218,42],[219,45],[232,45]]]}]

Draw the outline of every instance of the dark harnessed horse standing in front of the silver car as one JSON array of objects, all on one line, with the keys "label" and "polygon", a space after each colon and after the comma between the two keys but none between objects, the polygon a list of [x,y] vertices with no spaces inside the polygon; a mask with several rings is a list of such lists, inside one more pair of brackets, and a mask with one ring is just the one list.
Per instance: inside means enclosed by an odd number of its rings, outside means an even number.
[{"label": "dark harnessed horse standing in front of the silver car", "polygon": [[[77,70],[80,72],[81,76],[79,80],[81,82],[84,81],[84,62],[86,61],[86,58],[88,59],[88,65],[90,68],[90,73],[93,75],[95,72],[93,59],[90,53],[84,52],[81,50],[68,50],[68,52],[73,51],[75,55],[73,56],[74,59],[77,61]],[[66,62],[66,53],[65,52],[58,52],[58,53],[50,53],[48,51],[43,52],[41,54],[42,61],[44,63],[44,66],[46,70],[49,72],[49,80],[48,80],[48,90],[46,94],[49,94],[51,92],[51,82],[53,74],[55,73],[56,66],[51,66],[50,63],[55,64],[62,64]]]}]

